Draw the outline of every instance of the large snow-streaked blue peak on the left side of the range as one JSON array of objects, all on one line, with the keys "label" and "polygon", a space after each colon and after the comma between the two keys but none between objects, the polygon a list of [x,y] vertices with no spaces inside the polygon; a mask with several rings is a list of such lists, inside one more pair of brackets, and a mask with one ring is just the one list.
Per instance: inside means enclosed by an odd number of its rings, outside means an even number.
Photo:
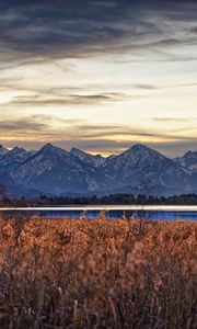
[{"label": "large snow-streaked blue peak on the left side of the range", "polygon": [[24,161],[14,177],[25,185],[48,193],[97,189],[95,173],[88,164],[51,144],[45,145]]}]

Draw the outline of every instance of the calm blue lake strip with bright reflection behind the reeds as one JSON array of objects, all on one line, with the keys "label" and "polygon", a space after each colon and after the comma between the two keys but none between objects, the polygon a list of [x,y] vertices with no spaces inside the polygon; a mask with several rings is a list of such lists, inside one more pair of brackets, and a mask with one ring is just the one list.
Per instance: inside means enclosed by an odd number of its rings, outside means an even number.
[{"label": "calm blue lake strip with bright reflection behind the reeds", "polygon": [[44,218],[62,217],[88,217],[95,219],[101,212],[105,211],[108,219],[136,219],[152,220],[197,220],[197,206],[68,206],[68,207],[31,207],[31,208],[0,208],[0,214],[4,218],[14,216],[40,216]]}]

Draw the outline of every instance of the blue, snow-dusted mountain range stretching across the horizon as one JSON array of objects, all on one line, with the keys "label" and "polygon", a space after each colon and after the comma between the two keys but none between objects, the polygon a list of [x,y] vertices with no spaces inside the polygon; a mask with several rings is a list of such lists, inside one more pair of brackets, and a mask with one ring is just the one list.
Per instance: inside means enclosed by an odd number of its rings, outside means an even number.
[{"label": "blue, snow-dusted mountain range stretching across the horizon", "polygon": [[51,144],[31,151],[0,146],[0,183],[10,196],[141,193],[142,181],[154,195],[196,193],[197,151],[171,159],[137,144],[104,158]]}]

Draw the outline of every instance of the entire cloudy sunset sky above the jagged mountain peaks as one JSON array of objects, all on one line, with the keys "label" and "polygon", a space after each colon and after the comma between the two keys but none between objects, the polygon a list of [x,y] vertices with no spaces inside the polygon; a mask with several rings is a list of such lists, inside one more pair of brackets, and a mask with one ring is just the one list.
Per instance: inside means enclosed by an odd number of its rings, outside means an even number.
[{"label": "entire cloudy sunset sky above the jagged mountain peaks", "polygon": [[196,0],[1,0],[0,143],[197,150],[196,18]]}]

